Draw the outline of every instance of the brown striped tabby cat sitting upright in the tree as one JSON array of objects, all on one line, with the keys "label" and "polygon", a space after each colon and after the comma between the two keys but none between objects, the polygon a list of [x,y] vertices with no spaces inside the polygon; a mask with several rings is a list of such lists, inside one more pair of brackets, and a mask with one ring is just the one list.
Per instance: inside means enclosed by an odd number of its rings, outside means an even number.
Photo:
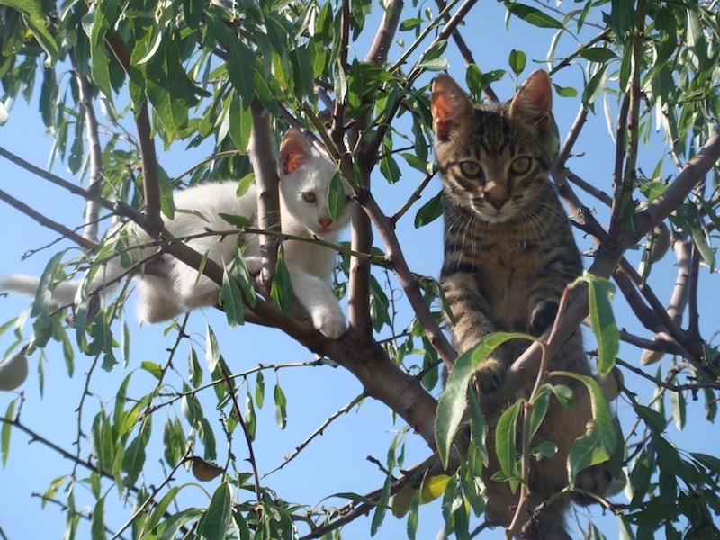
[{"label": "brown striped tabby cat sitting upright in the tree", "polygon": [[[548,180],[554,152],[551,131],[552,89],[545,71],[537,70],[518,89],[509,105],[476,109],[449,76],[437,76],[431,109],[437,164],[445,189],[445,261],[440,274],[443,291],[455,317],[455,347],[463,353],[495,331],[539,336],[552,324],[565,286],[582,273],[581,255],[570,222]],[[527,348],[511,340],[480,365],[475,378],[490,434],[490,467],[483,472],[487,487],[486,518],[509,526],[518,494],[508,482],[493,482],[500,469],[494,455],[494,426],[505,405],[492,392],[505,372]],[[580,329],[555,353],[553,370],[591,374]],[[536,374],[528,374],[527,397]],[[552,441],[557,453],[532,459],[528,518],[523,538],[569,538],[563,527],[569,500],[540,505],[567,485],[566,459],[572,443],[592,418],[590,399],[581,383],[554,380],[572,389],[574,404],[564,409],[552,398],[535,444]],[[491,410],[488,410],[491,409]],[[576,484],[606,491],[610,477],[604,467],[586,470]],[[539,508],[538,508],[539,507]]]}]

